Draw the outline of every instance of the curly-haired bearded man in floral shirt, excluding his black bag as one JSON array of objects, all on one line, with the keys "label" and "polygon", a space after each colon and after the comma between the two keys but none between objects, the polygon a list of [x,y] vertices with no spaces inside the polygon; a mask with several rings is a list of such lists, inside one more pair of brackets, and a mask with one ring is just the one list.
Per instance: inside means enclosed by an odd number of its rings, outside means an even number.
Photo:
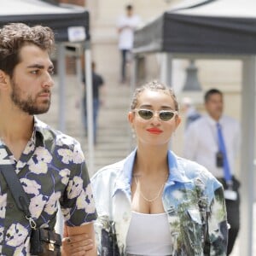
[{"label": "curly-haired bearded man in floral shirt, excluding his black bag", "polygon": [[[3,158],[12,162],[38,229],[54,230],[60,203],[62,255],[96,255],[96,208],[80,144],[36,116],[50,107],[53,48],[47,26],[12,23],[0,29],[0,164]],[[0,209],[0,254],[30,255],[31,222],[2,174]]]}]

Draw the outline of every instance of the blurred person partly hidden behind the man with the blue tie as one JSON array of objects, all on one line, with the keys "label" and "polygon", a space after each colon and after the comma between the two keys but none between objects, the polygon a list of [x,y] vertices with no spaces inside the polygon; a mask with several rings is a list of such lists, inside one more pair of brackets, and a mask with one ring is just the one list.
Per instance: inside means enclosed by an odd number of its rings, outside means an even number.
[{"label": "blurred person partly hidden behind the man with the blue tie", "polygon": [[182,110],[186,115],[186,121],[185,121],[185,130],[186,130],[188,129],[191,123],[193,123],[196,119],[199,119],[201,117],[201,113],[199,113],[195,109],[195,106],[193,105],[193,102],[189,97],[183,97]]}]

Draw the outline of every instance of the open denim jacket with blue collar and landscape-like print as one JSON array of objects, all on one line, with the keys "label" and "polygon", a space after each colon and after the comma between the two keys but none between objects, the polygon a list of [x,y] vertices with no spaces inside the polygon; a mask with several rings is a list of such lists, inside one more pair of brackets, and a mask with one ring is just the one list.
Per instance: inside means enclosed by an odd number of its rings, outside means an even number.
[{"label": "open denim jacket with blue collar and landscape-like print", "polygon": [[[126,255],[136,152],[137,149],[125,160],[103,167],[91,178],[101,255]],[[222,185],[203,166],[177,157],[172,151],[167,157],[169,177],[162,201],[172,235],[172,256],[226,255],[228,224]]]}]

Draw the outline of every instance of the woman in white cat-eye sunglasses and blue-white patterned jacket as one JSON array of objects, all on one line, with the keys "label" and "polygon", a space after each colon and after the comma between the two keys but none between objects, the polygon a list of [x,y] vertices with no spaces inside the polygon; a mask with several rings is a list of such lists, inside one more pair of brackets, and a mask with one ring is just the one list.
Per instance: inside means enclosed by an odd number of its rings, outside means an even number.
[{"label": "woman in white cat-eye sunglasses and blue-white patterned jacket", "polygon": [[100,255],[226,255],[223,188],[203,166],[169,150],[181,122],[173,91],[135,90],[128,120],[137,148],[92,177]]}]

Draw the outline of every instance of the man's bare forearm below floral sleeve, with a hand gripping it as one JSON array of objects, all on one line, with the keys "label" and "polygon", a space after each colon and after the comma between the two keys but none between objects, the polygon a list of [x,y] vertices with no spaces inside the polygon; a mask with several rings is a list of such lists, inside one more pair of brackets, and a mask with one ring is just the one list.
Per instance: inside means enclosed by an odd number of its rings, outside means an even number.
[{"label": "man's bare forearm below floral sleeve, with a hand gripping it", "polygon": [[64,225],[63,256],[96,256],[96,240],[93,223],[78,227]]}]

